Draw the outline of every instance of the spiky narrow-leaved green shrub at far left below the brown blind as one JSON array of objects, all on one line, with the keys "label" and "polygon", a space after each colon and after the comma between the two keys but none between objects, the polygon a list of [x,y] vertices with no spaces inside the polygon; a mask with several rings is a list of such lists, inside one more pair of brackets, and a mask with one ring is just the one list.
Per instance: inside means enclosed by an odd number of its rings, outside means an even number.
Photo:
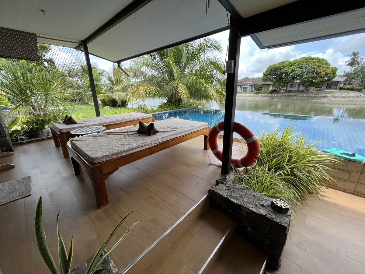
[{"label": "spiky narrow-leaved green shrub at far left below the brown blind", "polygon": [[31,115],[45,116],[48,107],[57,104],[66,96],[68,85],[61,75],[51,73],[33,62],[1,62],[1,97],[7,102],[3,107],[11,107],[5,118],[18,113],[21,119]]}]

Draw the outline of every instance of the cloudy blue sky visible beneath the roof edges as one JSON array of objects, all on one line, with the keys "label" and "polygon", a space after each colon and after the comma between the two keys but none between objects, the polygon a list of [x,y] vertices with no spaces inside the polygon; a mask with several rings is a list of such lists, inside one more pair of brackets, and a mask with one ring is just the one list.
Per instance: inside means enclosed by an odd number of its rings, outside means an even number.
[{"label": "cloudy blue sky visible beneath the roof edges", "polygon": [[[210,36],[218,40],[222,45],[223,53],[220,54],[222,60],[226,56],[228,33],[229,31],[224,31]],[[260,77],[271,64],[276,64],[284,60],[295,60],[305,56],[325,58],[332,66],[338,68],[337,74],[342,75],[345,70],[350,70],[345,62],[349,60],[347,54],[351,54],[353,51],[360,51],[360,55],[365,57],[365,33],[263,50],[260,50],[250,37],[244,37],[241,39],[238,77],[239,79],[246,76]],[[75,54],[71,53],[67,55],[65,50],[62,50],[62,52],[54,49],[53,53],[55,56],[60,54],[65,60],[71,60]],[[82,53],[78,52],[78,54],[83,58]],[[112,62],[94,56],[91,56],[90,59],[92,62],[96,62],[100,68],[111,73]],[[123,62],[123,65],[127,66],[128,61]]]}]

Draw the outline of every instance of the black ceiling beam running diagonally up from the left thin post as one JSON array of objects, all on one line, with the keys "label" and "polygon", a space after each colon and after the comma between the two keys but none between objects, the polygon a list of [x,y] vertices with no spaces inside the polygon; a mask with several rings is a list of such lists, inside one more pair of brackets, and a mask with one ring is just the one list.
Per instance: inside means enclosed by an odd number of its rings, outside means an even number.
[{"label": "black ceiling beam running diagonally up from the left thin post", "polygon": [[143,8],[145,5],[150,3],[152,0],[134,0],[132,3],[123,8],[120,12],[114,15],[110,20],[104,23],[96,31],[90,34],[87,38],[83,40],[85,43],[90,43],[94,39],[98,38],[100,35],[110,30],[112,27],[116,26],[124,19],[128,18],[130,15],[134,14],[139,9]]}]

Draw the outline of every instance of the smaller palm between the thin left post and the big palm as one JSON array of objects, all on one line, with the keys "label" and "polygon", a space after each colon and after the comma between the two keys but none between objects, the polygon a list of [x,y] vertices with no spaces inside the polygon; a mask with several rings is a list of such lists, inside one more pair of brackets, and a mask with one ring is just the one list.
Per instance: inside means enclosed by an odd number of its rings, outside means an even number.
[{"label": "smaller palm between the thin left post and the big palm", "polygon": [[129,83],[130,78],[116,64],[113,64],[112,74],[104,71],[102,78],[103,82],[100,85],[103,87],[103,91],[97,95],[97,98],[114,99],[123,106],[123,102],[127,101],[126,85],[123,83]]}]

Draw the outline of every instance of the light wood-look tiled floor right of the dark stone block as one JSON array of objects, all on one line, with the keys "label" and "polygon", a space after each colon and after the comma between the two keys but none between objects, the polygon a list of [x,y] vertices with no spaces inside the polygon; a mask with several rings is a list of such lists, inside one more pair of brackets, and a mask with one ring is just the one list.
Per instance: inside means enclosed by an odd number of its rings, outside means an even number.
[{"label": "light wood-look tiled floor right of the dark stone block", "polygon": [[281,269],[269,273],[365,273],[365,198],[329,189],[295,210]]}]

